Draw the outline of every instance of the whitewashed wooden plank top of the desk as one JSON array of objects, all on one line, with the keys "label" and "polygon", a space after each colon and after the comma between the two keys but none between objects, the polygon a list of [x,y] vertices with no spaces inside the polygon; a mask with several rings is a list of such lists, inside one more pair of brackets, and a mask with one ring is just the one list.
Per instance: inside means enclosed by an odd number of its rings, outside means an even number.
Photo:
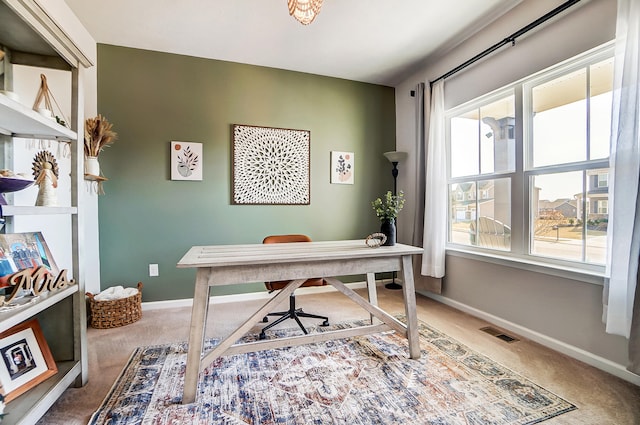
[{"label": "whitewashed wooden plank top of the desk", "polygon": [[403,244],[368,247],[364,239],[348,241],[288,242],[273,244],[194,246],[178,268],[222,267],[243,264],[282,264],[351,258],[398,257],[422,254],[423,249]]}]

